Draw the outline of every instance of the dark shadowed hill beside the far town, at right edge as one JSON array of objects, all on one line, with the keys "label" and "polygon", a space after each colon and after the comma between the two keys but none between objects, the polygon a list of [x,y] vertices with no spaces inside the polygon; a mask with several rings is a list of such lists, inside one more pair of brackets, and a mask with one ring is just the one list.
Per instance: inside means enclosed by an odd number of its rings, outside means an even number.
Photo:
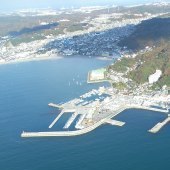
[{"label": "dark shadowed hill beside the far town, at right edge", "polygon": [[170,17],[153,18],[136,26],[135,31],[119,42],[130,50],[144,49],[170,40]]}]

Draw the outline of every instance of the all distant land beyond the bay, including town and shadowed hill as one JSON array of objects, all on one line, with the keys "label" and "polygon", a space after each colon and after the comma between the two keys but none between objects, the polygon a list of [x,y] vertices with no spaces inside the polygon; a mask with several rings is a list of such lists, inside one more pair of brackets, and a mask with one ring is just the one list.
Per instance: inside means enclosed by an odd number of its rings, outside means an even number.
[{"label": "all distant land beyond the bay, including town and shadowed hill", "polygon": [[0,14],[0,62],[55,54],[113,57],[118,44],[155,46],[169,40],[168,13],[170,4],[157,3]]}]

